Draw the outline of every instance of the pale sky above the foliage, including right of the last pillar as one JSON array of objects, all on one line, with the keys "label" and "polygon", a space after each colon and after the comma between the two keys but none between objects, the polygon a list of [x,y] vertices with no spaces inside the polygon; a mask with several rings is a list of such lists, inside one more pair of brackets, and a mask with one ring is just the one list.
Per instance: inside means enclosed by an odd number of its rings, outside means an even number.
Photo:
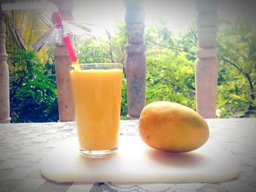
[{"label": "pale sky above the foliage, including right of the last pillar", "polygon": [[[246,16],[256,24],[255,4],[253,0],[223,0],[219,1],[217,12],[219,18],[235,20]],[[143,5],[146,26],[157,25],[163,18],[174,33],[187,31],[197,17],[195,0],[144,0]],[[124,20],[126,11],[123,0],[74,0],[74,6],[75,20],[94,24],[99,33],[111,28],[116,20]]]}]

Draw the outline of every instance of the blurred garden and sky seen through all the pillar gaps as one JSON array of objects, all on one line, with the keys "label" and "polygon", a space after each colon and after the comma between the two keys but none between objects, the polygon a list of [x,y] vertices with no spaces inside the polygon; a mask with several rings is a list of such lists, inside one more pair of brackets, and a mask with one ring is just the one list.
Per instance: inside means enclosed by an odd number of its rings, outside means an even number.
[{"label": "blurred garden and sky seen through all the pillar gaps", "polygon": [[[75,35],[81,63],[125,62],[124,1],[73,1],[76,23],[93,24],[91,36]],[[219,1],[217,118],[256,117],[255,1]],[[195,110],[195,1],[143,1],[146,102],[175,101]],[[7,53],[12,122],[57,121],[54,44],[31,48],[50,27],[45,10],[8,12]],[[121,118],[127,118],[124,74]]]}]

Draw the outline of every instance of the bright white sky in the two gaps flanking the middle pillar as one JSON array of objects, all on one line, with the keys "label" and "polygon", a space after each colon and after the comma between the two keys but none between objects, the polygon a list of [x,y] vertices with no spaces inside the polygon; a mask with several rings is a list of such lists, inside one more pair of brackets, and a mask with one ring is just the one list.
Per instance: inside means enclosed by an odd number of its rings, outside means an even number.
[{"label": "bright white sky in the two gaps flanking the middle pillar", "polygon": [[[171,1],[144,0],[145,24],[157,25],[159,19],[167,21],[167,26],[173,31],[184,31],[188,22],[196,18],[196,12],[192,8],[192,1],[179,1],[171,4]],[[99,28],[111,28],[116,20],[124,20],[126,9],[123,0],[108,1],[75,1],[73,16],[79,23],[93,23]]]}]

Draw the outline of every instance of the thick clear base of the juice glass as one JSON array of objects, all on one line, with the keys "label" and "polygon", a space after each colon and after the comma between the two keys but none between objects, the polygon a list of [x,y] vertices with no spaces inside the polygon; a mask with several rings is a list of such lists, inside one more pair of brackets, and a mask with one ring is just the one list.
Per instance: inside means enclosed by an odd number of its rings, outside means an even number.
[{"label": "thick clear base of the juice glass", "polygon": [[85,150],[80,148],[80,154],[89,158],[104,158],[113,155],[117,150],[118,147],[110,150]]}]

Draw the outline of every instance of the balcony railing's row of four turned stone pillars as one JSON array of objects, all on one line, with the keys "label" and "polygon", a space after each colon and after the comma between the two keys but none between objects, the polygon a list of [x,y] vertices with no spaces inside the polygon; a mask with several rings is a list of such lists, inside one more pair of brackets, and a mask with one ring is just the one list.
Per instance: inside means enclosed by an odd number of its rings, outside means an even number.
[{"label": "balcony railing's row of four turned stone pillars", "polygon": [[[50,0],[64,20],[72,20],[72,1]],[[124,0],[127,29],[126,63],[128,115],[139,118],[146,104],[146,56],[143,34],[143,1]],[[197,7],[197,50],[195,88],[197,112],[203,118],[215,118],[217,103],[217,1],[195,1]],[[10,122],[9,71],[5,50],[4,12],[0,11],[0,123]],[[69,56],[64,45],[56,45],[56,81],[59,100],[59,120],[75,120],[69,79]]]}]

